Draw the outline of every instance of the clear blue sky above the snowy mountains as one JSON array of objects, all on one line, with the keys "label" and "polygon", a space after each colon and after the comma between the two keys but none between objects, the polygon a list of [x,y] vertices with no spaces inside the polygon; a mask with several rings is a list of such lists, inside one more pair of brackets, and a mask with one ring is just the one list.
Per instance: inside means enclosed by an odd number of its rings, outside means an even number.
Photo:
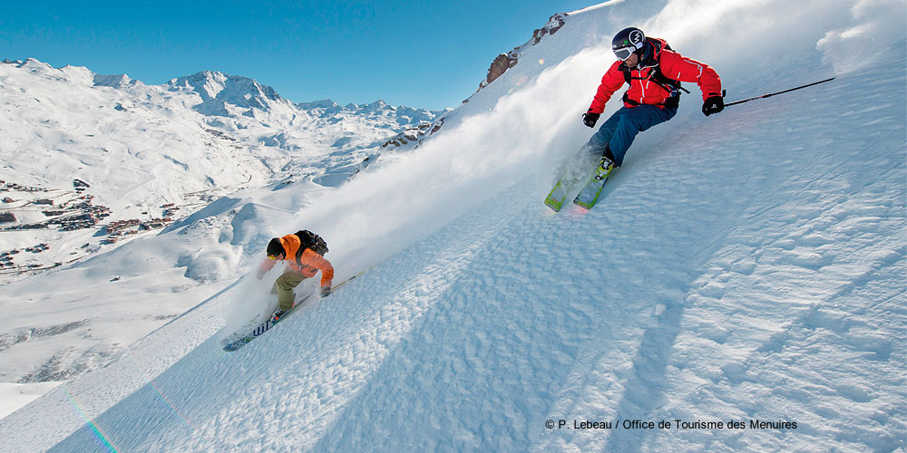
[{"label": "clear blue sky above the snowy mountains", "polygon": [[529,41],[552,14],[600,1],[7,1],[0,60],[32,57],[148,84],[221,71],[290,101],[442,109],[469,97],[494,57]]}]

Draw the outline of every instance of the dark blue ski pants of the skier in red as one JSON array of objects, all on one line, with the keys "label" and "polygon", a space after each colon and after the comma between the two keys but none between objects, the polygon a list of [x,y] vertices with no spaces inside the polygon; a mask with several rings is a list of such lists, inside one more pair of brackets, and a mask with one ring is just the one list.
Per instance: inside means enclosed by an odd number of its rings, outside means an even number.
[{"label": "dark blue ski pants of the skier in red", "polygon": [[674,118],[677,113],[677,109],[661,109],[649,104],[621,107],[601,125],[584,147],[590,154],[601,154],[607,146],[614,155],[614,163],[620,167],[636,134]]}]

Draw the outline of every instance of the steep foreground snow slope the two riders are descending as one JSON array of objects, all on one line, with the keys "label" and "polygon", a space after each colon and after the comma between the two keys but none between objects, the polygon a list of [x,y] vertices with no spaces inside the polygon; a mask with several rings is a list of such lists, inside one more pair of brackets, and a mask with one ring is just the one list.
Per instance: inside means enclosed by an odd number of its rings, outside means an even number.
[{"label": "steep foreground snow slope the two riders are descending", "polygon": [[[11,451],[902,451],[907,41],[888,19],[902,13],[570,14],[414,152],[297,215],[242,205],[243,220],[279,221],[261,236],[323,231],[339,277],[364,275],[232,354],[220,326],[276,275],[210,285],[104,368],[0,419],[0,436]],[[631,19],[711,63],[729,100],[837,78],[707,119],[694,89],[639,137],[600,206],[554,215],[551,168],[588,138],[601,43]],[[704,25],[728,39],[697,40]],[[867,27],[882,43],[854,66]],[[754,30],[769,37],[739,39]],[[577,429],[587,420],[616,426]],[[730,421],[744,428],[694,425]]]}]

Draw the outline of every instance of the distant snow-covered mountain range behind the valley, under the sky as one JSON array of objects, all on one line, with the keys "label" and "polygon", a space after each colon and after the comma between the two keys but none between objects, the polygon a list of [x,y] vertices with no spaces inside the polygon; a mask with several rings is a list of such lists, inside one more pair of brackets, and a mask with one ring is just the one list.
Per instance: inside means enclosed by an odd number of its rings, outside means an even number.
[{"label": "distant snow-covered mountain range behind the valley, under the sky", "polygon": [[293,103],[221,72],[150,86],[34,59],[0,64],[0,103],[4,282],[77,262],[240,188],[339,185],[387,140],[444,113]]}]

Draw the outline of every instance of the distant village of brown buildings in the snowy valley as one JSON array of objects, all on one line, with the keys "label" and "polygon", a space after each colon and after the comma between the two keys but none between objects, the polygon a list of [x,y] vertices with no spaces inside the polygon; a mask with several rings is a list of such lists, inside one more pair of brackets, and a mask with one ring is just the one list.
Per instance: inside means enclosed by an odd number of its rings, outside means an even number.
[{"label": "distant village of brown buildings in the snowy valley", "polygon": [[[41,197],[40,194],[54,192],[54,190],[33,188],[0,180],[0,196],[2,196],[0,197],[0,202],[2,202],[0,203],[0,233],[4,231],[48,229],[52,227],[57,228],[59,231],[98,228],[107,235],[101,241],[102,244],[115,244],[124,237],[137,235],[144,231],[160,229],[171,224],[173,222],[174,214],[180,210],[180,207],[176,207],[173,203],[169,203],[161,206],[161,217],[154,217],[146,220],[138,218],[116,220],[103,225],[102,220],[111,216],[111,209],[110,207],[93,204],[94,197],[83,193],[90,187],[91,186],[88,183],[81,179],[73,179],[73,189],[75,191],[74,198],[47,196],[46,198],[23,200],[15,199],[8,195],[3,196],[3,193],[38,194],[38,196]],[[73,192],[68,192],[68,194],[72,196]],[[54,198],[63,198],[64,200],[58,202]],[[19,210],[21,212],[23,208],[40,210],[47,219],[40,222],[20,222],[19,219],[15,217],[14,211]],[[83,248],[88,248],[88,246],[90,245],[86,244]],[[51,266],[19,266],[15,264],[15,255],[18,255],[21,252],[39,254],[48,248],[49,246],[47,244],[38,244],[36,246],[25,247],[24,249],[0,251],[0,270],[29,270],[39,267],[48,268],[62,265],[62,263],[55,263]]]}]

